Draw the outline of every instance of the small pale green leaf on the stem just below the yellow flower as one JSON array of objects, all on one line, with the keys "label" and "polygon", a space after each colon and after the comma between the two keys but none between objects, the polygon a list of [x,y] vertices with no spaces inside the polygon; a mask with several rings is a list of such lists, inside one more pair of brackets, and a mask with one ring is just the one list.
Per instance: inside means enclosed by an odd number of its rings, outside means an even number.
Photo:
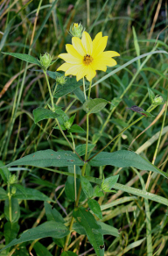
[{"label": "small pale green leaf on the stem just below the yellow flower", "polygon": [[101,111],[106,105],[109,103],[107,100],[104,99],[88,99],[84,104],[83,104],[83,110],[88,112],[89,114],[91,113],[97,113]]}]

